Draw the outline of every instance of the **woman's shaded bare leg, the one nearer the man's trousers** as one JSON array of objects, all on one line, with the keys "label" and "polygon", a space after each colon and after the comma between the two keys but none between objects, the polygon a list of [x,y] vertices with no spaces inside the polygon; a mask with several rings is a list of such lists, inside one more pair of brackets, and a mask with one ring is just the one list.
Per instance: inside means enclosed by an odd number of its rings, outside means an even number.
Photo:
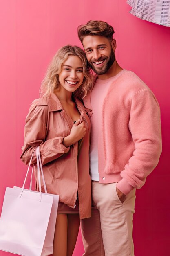
[{"label": "woman's shaded bare leg, the one nearer the man's trousers", "polygon": [[79,233],[79,214],[67,214],[67,256],[72,256]]}]

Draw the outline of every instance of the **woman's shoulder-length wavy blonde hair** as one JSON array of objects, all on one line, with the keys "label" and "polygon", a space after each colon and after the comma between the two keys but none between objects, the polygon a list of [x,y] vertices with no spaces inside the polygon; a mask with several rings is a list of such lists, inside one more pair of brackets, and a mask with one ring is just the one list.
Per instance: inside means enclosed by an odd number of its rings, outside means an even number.
[{"label": "woman's shoulder-length wavy blonde hair", "polygon": [[83,99],[87,92],[91,90],[93,86],[93,76],[90,67],[88,66],[86,55],[84,51],[78,46],[66,45],[60,48],[53,57],[46,76],[42,81],[40,88],[40,96],[53,93],[54,90],[60,88],[59,74],[62,71],[62,64],[67,60],[68,56],[78,56],[83,65],[84,79],[82,85],[73,92],[79,99]]}]

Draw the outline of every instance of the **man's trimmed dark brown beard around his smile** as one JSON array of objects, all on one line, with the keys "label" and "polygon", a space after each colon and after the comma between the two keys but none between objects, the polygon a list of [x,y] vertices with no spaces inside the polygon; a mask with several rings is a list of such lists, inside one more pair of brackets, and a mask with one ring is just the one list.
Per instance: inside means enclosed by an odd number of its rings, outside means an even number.
[{"label": "man's trimmed dark brown beard around his smile", "polygon": [[[100,61],[97,60],[97,61]],[[111,53],[110,53],[110,56],[109,56],[109,59],[107,60],[106,59],[106,64],[104,64],[103,67],[101,68],[96,68],[93,64],[89,63],[91,69],[97,74],[97,75],[104,75],[108,72],[108,70],[110,69],[110,67],[112,66],[113,62],[115,61],[115,54],[113,52],[113,49],[111,49]]]}]

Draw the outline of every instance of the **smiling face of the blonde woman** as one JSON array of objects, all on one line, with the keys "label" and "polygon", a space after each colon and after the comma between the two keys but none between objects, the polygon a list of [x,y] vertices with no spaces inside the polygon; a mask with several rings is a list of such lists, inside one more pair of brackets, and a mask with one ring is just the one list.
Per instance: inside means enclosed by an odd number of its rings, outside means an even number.
[{"label": "smiling face of the blonde woman", "polygon": [[78,56],[69,55],[67,60],[62,64],[59,82],[60,90],[75,92],[82,84],[84,79],[82,61]]}]

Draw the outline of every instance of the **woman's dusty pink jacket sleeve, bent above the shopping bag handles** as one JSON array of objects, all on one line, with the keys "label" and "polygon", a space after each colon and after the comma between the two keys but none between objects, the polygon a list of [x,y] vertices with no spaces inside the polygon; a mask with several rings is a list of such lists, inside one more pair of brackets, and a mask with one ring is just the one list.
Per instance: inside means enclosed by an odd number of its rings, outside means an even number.
[{"label": "woman's dusty pink jacket sleeve, bent above the shopping bag handles", "polygon": [[[40,146],[42,165],[51,162],[67,153],[70,147],[66,148],[62,141],[64,137],[54,137],[46,140],[49,110],[48,106],[34,106],[26,117],[24,131],[24,146],[22,146],[21,160],[29,164],[33,150]],[[31,164],[36,163],[34,151]]]}]

